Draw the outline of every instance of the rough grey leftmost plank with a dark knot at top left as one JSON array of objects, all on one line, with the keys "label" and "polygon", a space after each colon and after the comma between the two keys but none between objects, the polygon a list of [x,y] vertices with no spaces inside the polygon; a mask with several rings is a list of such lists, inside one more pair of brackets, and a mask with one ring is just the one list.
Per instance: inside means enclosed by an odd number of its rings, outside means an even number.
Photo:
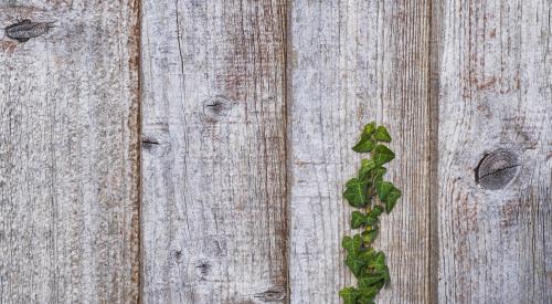
[{"label": "rough grey leftmost plank with a dark knot at top left", "polygon": [[139,1],[2,1],[0,303],[136,303]]}]

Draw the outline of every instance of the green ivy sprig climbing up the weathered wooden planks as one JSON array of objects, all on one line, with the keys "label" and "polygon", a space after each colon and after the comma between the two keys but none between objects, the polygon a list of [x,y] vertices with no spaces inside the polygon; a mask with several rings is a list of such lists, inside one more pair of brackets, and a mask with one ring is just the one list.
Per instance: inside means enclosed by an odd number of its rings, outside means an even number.
[{"label": "green ivy sprig climbing up the weathered wooden planks", "polygon": [[374,303],[378,293],[390,282],[385,254],[373,248],[380,230],[380,216],[390,213],[401,197],[401,190],[383,180],[388,171],[384,165],[395,158],[385,146],[388,143],[391,143],[388,129],[370,123],[352,148],[370,157],[362,159],[357,176],[347,181],[343,192],[349,205],[360,209],[351,213],[351,228],[361,229],[341,242],[347,251],[344,263],[357,277],[357,286],[347,286],[339,292],[344,304]]}]

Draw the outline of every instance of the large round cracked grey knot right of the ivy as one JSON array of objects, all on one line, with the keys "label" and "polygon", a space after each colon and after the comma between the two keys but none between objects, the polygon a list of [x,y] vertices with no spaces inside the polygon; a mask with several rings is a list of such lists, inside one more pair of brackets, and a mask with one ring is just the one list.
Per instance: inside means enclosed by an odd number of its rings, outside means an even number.
[{"label": "large round cracked grey knot right of the ivy", "polygon": [[488,190],[505,188],[518,174],[519,156],[509,149],[498,149],[479,161],[476,168],[476,182]]}]

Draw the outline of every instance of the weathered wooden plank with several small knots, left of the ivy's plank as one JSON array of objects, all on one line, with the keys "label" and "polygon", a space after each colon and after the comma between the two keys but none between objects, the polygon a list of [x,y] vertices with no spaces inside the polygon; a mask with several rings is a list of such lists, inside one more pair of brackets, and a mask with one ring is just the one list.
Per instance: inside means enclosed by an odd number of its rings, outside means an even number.
[{"label": "weathered wooden plank with several small knots, left of the ivy's plank", "polygon": [[144,1],[144,302],[285,302],[286,1]]}]

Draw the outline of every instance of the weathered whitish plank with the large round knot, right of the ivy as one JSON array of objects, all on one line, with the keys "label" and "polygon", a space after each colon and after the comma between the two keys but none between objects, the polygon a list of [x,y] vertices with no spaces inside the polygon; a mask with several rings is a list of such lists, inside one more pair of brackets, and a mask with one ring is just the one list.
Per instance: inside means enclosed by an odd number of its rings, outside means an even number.
[{"label": "weathered whitish plank with the large round knot, right of the ivy", "polygon": [[551,303],[551,2],[436,6],[439,303]]}]

